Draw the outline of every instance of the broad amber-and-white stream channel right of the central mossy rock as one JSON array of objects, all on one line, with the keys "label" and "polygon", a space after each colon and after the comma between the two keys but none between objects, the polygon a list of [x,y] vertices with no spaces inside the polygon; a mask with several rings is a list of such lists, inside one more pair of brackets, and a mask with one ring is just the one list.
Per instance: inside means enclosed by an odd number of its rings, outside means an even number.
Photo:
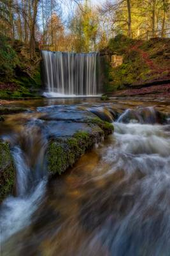
[{"label": "broad amber-and-white stream channel right of the central mossy rock", "polygon": [[31,200],[29,225],[3,243],[3,255],[169,256],[170,125],[124,116],[104,145]]}]

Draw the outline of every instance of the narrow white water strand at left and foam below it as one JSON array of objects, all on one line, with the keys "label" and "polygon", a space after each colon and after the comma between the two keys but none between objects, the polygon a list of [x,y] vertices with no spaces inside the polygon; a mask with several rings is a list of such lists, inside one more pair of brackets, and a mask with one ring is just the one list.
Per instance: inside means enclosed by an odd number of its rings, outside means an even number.
[{"label": "narrow white water strand at left and foam below it", "polygon": [[41,179],[29,192],[31,170],[20,148],[15,148],[13,158],[17,170],[17,197],[10,196],[1,205],[1,242],[31,223],[32,213],[41,204],[46,187],[46,179]]}]

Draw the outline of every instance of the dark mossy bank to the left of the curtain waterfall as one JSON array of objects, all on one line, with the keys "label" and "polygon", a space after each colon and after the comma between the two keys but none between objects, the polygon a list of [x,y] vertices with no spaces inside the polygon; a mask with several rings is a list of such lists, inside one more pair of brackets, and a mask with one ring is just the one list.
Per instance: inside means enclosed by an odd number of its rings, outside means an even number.
[{"label": "dark mossy bank to the left of the curtain waterfall", "polygon": [[19,40],[0,36],[0,99],[34,97],[41,86],[39,52],[29,58],[29,48]]}]

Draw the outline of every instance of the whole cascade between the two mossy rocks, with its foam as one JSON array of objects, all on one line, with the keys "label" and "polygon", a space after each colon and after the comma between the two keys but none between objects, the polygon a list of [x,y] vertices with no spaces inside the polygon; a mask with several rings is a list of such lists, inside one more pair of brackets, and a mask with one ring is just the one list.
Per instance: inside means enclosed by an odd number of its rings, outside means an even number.
[{"label": "whole cascade between the two mossy rocks, with its foam", "polygon": [[[29,226],[32,214],[38,209],[46,191],[47,177],[45,163],[43,163],[46,141],[37,130],[36,119],[32,119],[28,122],[20,135],[22,140],[25,141],[24,145],[27,145],[29,150],[26,154],[19,145],[15,145],[13,150],[11,150],[17,172],[16,197],[9,196],[1,204],[0,244],[13,234]],[[11,141],[13,140],[12,137],[10,139]],[[15,141],[15,143],[17,143],[17,141]],[[32,153],[36,147],[39,147],[37,155],[35,152]],[[30,163],[34,160],[32,159],[32,155],[36,160],[33,166]]]}]

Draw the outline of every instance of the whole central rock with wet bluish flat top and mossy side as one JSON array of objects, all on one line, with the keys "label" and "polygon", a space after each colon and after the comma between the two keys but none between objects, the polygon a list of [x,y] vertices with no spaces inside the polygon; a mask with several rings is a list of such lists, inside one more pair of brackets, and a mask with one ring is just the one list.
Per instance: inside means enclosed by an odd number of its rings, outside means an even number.
[{"label": "whole central rock with wet bluish flat top and mossy side", "polygon": [[113,125],[87,110],[56,109],[41,116],[41,129],[48,138],[46,159],[50,175],[65,172],[86,150],[113,132]]}]

